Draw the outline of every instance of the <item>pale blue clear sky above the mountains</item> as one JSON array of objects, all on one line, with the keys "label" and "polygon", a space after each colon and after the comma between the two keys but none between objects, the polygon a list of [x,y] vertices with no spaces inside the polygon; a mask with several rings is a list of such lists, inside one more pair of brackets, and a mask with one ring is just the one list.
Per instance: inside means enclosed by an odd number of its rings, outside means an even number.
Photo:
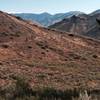
[{"label": "pale blue clear sky above the mountains", "polygon": [[10,13],[63,13],[100,9],[100,0],[0,0],[0,10]]}]

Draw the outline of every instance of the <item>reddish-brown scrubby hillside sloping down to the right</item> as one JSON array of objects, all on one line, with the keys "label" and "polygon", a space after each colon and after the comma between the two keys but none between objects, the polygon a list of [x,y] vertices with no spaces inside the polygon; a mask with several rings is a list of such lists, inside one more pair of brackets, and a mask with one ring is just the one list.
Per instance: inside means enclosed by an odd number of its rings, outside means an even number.
[{"label": "reddish-brown scrubby hillside sloping down to the right", "polygon": [[0,87],[24,77],[34,88],[100,88],[100,41],[0,12]]}]

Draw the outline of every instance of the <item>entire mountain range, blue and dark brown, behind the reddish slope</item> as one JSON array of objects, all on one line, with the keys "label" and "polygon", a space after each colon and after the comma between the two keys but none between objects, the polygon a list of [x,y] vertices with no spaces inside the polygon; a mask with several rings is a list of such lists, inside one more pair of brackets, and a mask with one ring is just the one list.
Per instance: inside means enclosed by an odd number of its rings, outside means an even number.
[{"label": "entire mountain range, blue and dark brown, behind the reddish slope", "polygon": [[96,22],[96,18],[100,18],[100,10],[90,14],[70,11],[54,15],[46,12],[41,14],[19,13],[14,15],[30,20],[39,26],[100,39],[100,27]]}]

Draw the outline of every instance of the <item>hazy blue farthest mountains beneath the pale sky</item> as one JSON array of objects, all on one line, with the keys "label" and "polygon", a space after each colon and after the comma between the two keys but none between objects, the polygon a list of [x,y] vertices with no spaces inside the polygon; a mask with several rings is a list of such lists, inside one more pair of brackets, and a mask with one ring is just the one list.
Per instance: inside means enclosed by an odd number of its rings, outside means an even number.
[{"label": "hazy blue farthest mountains beneath the pale sky", "polygon": [[61,21],[64,18],[69,18],[73,15],[78,16],[79,14],[83,14],[83,12],[80,11],[70,11],[67,13],[58,13],[51,15],[49,13],[41,13],[41,14],[33,14],[33,13],[19,13],[19,14],[14,14],[16,16],[19,16],[25,20],[31,20],[35,21],[37,23],[40,23],[42,26],[50,26],[56,22]]}]

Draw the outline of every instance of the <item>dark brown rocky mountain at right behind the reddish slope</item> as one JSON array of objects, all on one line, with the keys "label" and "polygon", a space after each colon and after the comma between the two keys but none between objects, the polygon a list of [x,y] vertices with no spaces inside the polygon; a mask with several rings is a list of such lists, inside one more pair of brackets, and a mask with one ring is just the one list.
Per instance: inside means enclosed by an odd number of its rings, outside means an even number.
[{"label": "dark brown rocky mountain at right behind the reddish slope", "polygon": [[81,14],[78,16],[74,15],[67,19],[65,18],[49,26],[49,28],[89,36],[100,40],[100,25],[98,25],[96,19],[100,19],[100,10],[94,11],[88,15]]}]

